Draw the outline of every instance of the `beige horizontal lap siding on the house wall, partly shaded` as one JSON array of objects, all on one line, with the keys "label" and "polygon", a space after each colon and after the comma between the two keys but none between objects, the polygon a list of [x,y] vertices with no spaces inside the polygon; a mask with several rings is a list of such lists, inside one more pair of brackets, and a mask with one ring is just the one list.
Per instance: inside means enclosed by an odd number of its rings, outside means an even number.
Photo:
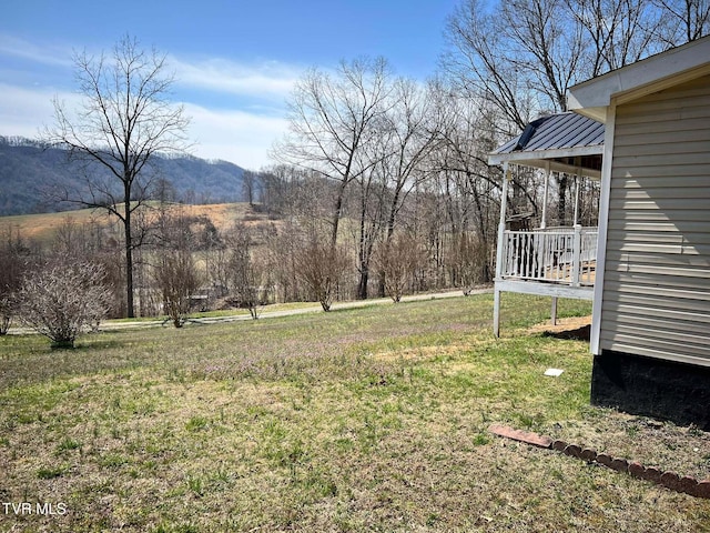
[{"label": "beige horizontal lap siding on the house wall, partly shaded", "polygon": [[615,128],[600,348],[710,365],[710,77]]}]

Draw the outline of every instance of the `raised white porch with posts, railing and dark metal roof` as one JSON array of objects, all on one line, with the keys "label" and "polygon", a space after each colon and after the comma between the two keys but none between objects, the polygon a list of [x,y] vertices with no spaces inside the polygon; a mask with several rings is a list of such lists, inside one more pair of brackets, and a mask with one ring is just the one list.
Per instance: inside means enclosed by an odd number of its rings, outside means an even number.
[{"label": "raised white porch with posts, railing and dark metal roof", "polygon": [[[558,298],[594,299],[598,229],[579,223],[579,181],[582,177],[600,179],[604,135],[600,122],[559,113],[531,122],[519,137],[489,155],[488,163],[500,164],[504,170],[494,289],[496,336],[500,333],[503,292],[551,296],[554,323]],[[544,172],[544,203],[537,228],[521,227],[520,215],[507,213],[513,165]],[[571,227],[547,224],[552,172],[575,177]]]}]

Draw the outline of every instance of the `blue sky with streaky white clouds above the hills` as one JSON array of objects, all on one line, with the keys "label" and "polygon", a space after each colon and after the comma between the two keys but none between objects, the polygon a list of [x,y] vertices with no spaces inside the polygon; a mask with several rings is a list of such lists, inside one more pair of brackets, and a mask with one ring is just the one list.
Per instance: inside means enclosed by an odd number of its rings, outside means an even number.
[{"label": "blue sky with streaky white clouds above the hills", "polygon": [[425,80],[459,0],[4,0],[0,134],[34,138],[51,99],[78,98],[72,51],[109,52],[126,33],[168,53],[193,153],[257,170],[286,128],[284,102],[310,67],[387,58]]}]

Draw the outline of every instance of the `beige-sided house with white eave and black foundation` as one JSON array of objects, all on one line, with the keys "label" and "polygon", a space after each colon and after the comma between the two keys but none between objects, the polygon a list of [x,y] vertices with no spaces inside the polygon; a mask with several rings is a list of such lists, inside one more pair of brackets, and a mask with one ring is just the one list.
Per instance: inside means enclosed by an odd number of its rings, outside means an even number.
[{"label": "beige-sided house with white eave and black foundation", "polygon": [[710,430],[710,37],[572,87],[568,108],[605,127],[591,401]]}]

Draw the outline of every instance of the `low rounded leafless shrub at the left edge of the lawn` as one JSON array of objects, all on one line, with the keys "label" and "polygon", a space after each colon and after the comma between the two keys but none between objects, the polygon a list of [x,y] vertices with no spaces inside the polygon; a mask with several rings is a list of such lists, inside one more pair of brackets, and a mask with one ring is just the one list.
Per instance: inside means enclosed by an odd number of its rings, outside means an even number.
[{"label": "low rounded leafless shrub at the left edge of the lawn", "polygon": [[20,291],[20,316],[52,348],[73,348],[84,328],[105,316],[110,293],[103,269],[90,262],[53,261],[28,276]]}]

